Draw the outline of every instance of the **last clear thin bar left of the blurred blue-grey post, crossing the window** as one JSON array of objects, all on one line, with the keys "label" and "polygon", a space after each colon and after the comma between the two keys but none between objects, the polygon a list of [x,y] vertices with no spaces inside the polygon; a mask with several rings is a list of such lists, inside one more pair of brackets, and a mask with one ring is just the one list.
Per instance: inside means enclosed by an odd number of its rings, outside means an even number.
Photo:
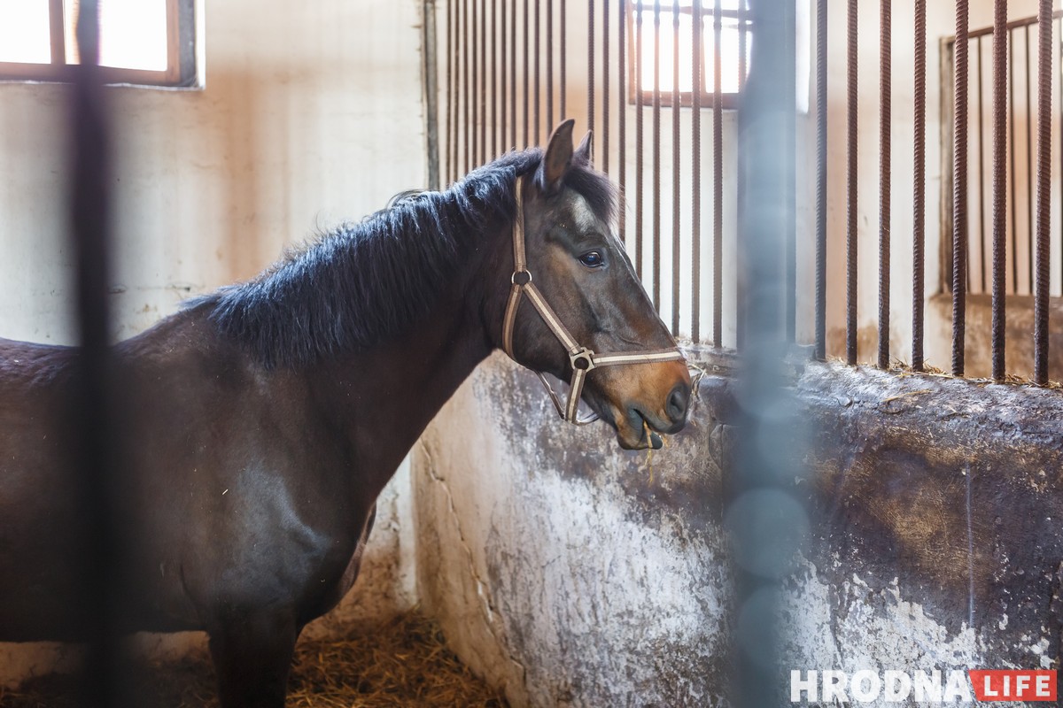
[{"label": "last clear thin bar left of the blurred blue-grey post, crossing the window", "polygon": [[[712,346],[723,347],[723,242],[724,242],[724,107],[723,17],[721,0],[712,7]],[[695,15],[699,18],[699,15]],[[698,37],[701,28],[698,27]],[[701,58],[701,57],[698,57]],[[701,73],[701,72],[698,72]],[[694,94],[702,92],[701,81]],[[699,201],[698,196],[696,201]]]}]

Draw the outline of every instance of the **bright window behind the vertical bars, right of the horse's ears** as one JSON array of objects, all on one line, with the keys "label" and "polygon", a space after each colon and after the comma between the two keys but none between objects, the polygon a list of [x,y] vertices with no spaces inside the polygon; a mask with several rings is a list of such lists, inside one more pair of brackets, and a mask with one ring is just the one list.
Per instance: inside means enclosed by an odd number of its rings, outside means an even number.
[{"label": "bright window behind the vertical bars, right of the horse's ears", "polygon": [[[676,13],[676,5],[679,12]],[[748,69],[753,34],[742,0],[721,0],[720,90],[725,108],[737,105],[740,74]],[[701,73],[699,103],[712,105],[716,61],[713,13],[715,0],[679,0],[628,3],[628,51],[635,57],[629,79],[632,102],[654,103],[654,86],[660,104],[672,104],[676,79],[680,105],[693,105],[694,22],[701,24],[697,57]],[[696,20],[695,20],[696,18]],[[741,61],[745,50],[746,62]],[[657,81],[655,81],[657,79]]]}]

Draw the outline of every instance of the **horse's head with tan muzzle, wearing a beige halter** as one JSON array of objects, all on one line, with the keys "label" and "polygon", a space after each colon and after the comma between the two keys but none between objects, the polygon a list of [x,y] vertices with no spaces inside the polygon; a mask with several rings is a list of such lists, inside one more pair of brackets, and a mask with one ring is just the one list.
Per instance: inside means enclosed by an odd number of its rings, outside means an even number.
[{"label": "horse's head with tan muzzle, wearing a beige halter", "polygon": [[621,447],[659,447],[655,432],[686,425],[690,374],[617,237],[617,189],[591,167],[591,135],[573,149],[572,126],[554,131],[534,175],[517,183],[502,346],[572,382],[568,405],[554,396],[566,419],[584,421],[581,398]]}]

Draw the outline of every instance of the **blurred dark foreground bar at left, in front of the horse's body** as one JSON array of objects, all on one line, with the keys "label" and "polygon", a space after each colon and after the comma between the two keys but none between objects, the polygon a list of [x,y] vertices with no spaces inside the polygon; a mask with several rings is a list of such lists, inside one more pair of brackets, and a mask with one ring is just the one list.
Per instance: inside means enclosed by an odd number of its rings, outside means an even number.
[{"label": "blurred dark foreground bar at left, in front of the horse's body", "polygon": [[89,643],[79,696],[87,706],[119,705],[117,582],[123,539],[117,521],[121,480],[114,413],[114,362],[108,343],[107,294],[111,247],[109,131],[106,94],[98,64],[96,0],[82,0],[77,34],[81,65],[72,71],[68,127],[71,148],[70,246],[75,258],[77,322],[80,347],[72,369],[73,396],[66,413],[75,426],[71,460],[78,461],[75,518],[84,523],[84,593],[79,618]]}]

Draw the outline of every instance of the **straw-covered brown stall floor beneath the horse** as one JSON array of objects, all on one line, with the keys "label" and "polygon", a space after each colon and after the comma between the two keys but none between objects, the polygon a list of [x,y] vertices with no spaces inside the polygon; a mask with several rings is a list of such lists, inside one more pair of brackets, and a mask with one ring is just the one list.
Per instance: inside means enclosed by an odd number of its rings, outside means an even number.
[{"label": "straw-covered brown stall floor beneath the horse", "polygon": [[[217,708],[208,659],[135,666],[132,692],[139,708]],[[75,680],[45,676],[17,691],[0,689],[0,708],[75,708]],[[505,708],[495,691],[446,649],[442,633],[411,614],[374,633],[344,641],[304,641],[288,681],[290,708]]]}]

